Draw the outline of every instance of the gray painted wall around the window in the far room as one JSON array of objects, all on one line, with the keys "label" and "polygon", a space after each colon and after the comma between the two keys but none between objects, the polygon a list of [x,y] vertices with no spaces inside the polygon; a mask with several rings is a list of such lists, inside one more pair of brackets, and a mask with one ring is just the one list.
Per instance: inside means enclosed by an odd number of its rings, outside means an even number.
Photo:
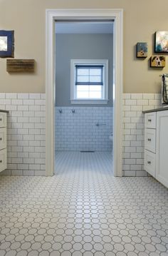
[{"label": "gray painted wall around the window in the far room", "polygon": [[70,59],[73,58],[108,59],[109,101],[95,106],[112,106],[112,34],[56,34],[56,106],[73,106],[70,103]]}]

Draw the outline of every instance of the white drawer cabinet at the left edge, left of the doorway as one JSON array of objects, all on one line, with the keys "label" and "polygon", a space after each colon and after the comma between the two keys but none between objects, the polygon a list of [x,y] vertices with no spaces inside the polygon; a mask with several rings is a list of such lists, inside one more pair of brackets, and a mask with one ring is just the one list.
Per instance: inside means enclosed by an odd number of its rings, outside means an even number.
[{"label": "white drawer cabinet at the left edge, left of the doorway", "polygon": [[6,113],[0,112],[0,172],[6,169]]}]

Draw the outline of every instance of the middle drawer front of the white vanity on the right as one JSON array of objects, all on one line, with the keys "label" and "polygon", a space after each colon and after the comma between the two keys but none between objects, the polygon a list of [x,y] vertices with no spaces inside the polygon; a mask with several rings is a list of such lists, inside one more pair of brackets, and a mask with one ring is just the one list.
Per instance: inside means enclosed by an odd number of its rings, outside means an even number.
[{"label": "middle drawer front of the white vanity on the right", "polygon": [[145,149],[156,153],[156,130],[145,129]]}]

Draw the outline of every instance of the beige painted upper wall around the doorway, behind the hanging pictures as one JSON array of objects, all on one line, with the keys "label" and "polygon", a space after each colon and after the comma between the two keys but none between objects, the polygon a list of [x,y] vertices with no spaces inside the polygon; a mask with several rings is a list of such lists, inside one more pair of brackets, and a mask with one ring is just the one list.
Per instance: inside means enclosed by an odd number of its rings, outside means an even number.
[{"label": "beige painted upper wall around the doorway, behind the hanging pictures", "polygon": [[[0,29],[15,31],[15,58],[34,58],[33,74],[9,74],[6,59],[0,58],[0,93],[45,92],[45,19],[46,9],[124,10],[124,92],[158,93],[166,67],[149,68],[154,54],[154,32],[168,30],[167,0],[0,0]],[[135,45],[146,41],[145,60],[135,57]],[[166,55],[166,54],[165,54]]]}]

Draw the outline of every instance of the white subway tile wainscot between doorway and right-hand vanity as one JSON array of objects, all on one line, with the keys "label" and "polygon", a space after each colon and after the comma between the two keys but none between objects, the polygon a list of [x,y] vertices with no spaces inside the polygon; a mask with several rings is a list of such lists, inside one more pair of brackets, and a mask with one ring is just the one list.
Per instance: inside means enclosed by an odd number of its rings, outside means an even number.
[{"label": "white subway tile wainscot between doorway and right-hand vanity", "polygon": [[144,114],[161,106],[160,93],[123,94],[123,175],[147,176],[144,170]]}]

